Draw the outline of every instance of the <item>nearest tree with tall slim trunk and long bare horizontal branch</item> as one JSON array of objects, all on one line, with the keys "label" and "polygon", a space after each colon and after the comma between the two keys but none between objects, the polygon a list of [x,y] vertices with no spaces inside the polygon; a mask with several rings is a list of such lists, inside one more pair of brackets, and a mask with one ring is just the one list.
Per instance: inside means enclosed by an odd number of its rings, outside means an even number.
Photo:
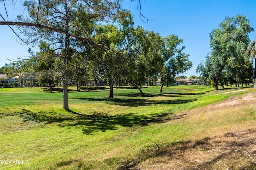
[{"label": "nearest tree with tall slim trunk and long bare horizontal branch", "polygon": [[[27,43],[47,41],[58,53],[62,60],[63,81],[63,108],[68,107],[68,64],[72,58],[83,49],[78,49],[76,40],[97,45],[91,37],[91,32],[86,32],[86,25],[91,27],[93,21],[103,21],[106,17],[112,18],[119,8],[118,1],[110,0],[30,0],[24,3],[28,16],[18,16],[20,22],[1,22],[6,25],[25,25],[20,27],[21,32],[28,37]],[[79,17],[77,17],[79,16]],[[76,24],[83,19],[83,24]],[[76,25],[75,27],[73,26]],[[92,30],[93,31],[93,30]],[[81,36],[83,35],[83,36]]]}]

